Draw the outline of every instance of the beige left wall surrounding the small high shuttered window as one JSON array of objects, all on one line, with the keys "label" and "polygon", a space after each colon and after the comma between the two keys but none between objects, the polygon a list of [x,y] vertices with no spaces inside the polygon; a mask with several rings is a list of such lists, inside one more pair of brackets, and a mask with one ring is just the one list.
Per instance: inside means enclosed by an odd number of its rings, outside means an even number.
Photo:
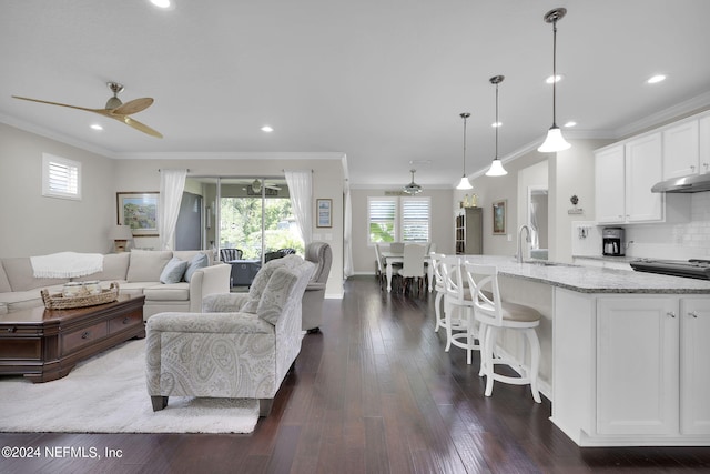
[{"label": "beige left wall surrounding the small high shuttered window", "polygon": [[[42,196],[45,152],[81,162],[81,201]],[[0,123],[0,256],[111,251],[114,174],[114,160]]]}]

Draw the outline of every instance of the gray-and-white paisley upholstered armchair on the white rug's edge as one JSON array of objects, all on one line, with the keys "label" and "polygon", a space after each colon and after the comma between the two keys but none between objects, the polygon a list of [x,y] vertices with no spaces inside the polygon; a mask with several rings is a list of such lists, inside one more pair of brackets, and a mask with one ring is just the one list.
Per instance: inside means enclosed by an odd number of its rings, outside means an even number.
[{"label": "gray-and-white paisley upholstered armchair on the white rug's edge", "polygon": [[302,299],[315,265],[298,255],[266,263],[248,293],[213,294],[202,313],[159,313],[146,325],[153,410],[170,396],[258,399],[266,416],[301,351]]}]

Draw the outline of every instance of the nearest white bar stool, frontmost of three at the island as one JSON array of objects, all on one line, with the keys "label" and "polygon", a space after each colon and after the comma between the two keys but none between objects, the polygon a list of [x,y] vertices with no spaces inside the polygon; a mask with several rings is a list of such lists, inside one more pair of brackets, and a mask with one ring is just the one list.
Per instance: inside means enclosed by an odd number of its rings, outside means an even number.
[{"label": "nearest white bar stool, frontmost of three at the island", "polygon": [[[486,376],[486,396],[493,393],[493,382],[498,381],[513,385],[530,384],[532,399],[540,403],[537,389],[537,372],[540,364],[540,343],[535,327],[540,324],[541,314],[523,304],[508,303],[500,300],[498,288],[498,269],[495,265],[480,265],[466,262],[468,284],[475,289],[474,306],[476,320],[480,323],[480,373]],[[483,276],[476,282],[474,275]],[[484,290],[487,289],[488,291]],[[530,350],[530,367],[524,367],[517,361],[496,354],[496,333],[499,329],[516,331],[527,342]],[[495,365],[508,365],[520,376],[497,374]]]}]

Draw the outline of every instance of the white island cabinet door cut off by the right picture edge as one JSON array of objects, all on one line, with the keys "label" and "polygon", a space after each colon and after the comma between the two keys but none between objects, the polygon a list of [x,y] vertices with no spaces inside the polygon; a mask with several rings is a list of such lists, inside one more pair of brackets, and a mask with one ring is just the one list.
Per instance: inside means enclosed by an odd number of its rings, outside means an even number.
[{"label": "white island cabinet door cut off by the right picture edge", "polygon": [[710,433],[710,300],[680,303],[680,432]]}]

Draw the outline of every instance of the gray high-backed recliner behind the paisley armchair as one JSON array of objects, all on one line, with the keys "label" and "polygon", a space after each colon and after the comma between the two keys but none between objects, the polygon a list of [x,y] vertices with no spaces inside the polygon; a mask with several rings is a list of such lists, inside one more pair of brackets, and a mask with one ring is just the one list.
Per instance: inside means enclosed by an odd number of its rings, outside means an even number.
[{"label": "gray high-backed recliner behind the paisley armchair", "polygon": [[303,294],[303,330],[317,333],[323,322],[325,284],[333,263],[331,245],[325,242],[311,242],[306,245],[305,260],[315,263],[316,269]]}]

